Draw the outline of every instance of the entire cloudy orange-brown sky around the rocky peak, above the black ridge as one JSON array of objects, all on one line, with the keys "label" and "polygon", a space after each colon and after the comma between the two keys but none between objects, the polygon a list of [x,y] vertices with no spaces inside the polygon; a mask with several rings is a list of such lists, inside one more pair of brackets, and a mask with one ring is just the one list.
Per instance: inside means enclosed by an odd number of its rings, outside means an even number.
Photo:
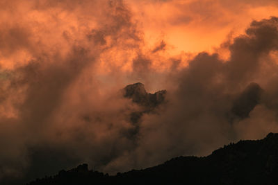
[{"label": "entire cloudy orange-brown sky around the rocky peak, above the black ridge", "polygon": [[[0,7],[0,182],[81,163],[115,174],[278,132],[276,0]],[[136,82],[165,102],[124,97]]]}]

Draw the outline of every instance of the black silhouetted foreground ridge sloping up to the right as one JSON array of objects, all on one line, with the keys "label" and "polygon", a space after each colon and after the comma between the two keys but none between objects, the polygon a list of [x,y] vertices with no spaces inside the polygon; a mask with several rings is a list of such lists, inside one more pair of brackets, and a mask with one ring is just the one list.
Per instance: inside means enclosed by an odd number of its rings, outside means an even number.
[{"label": "black silhouetted foreground ridge sloping up to the right", "polygon": [[177,157],[115,176],[88,170],[88,165],[82,164],[29,183],[42,184],[278,184],[278,134],[231,143],[207,157]]}]

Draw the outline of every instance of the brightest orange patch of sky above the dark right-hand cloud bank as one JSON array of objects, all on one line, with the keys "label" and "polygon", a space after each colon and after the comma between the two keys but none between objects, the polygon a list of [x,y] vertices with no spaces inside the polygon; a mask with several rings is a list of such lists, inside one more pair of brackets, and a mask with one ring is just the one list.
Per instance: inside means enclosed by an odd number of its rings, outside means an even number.
[{"label": "brightest orange patch of sky above the dark right-hand cloud bank", "polygon": [[234,36],[254,19],[278,15],[275,1],[129,1],[144,29],[145,40],[154,44],[163,37],[173,53],[213,51],[229,33]]}]

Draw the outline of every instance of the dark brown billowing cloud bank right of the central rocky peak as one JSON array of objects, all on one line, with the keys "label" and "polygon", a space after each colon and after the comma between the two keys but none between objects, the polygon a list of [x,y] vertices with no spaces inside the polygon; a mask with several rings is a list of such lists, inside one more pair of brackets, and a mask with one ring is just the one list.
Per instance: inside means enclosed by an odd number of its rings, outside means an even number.
[{"label": "dark brown billowing cloud bank right of the central rocky peak", "polygon": [[277,132],[276,105],[269,104],[276,88],[268,90],[277,83],[277,63],[267,57],[277,51],[277,25],[276,17],[253,21],[229,45],[227,61],[217,53],[195,56],[171,79],[176,88],[168,88],[161,114],[142,116],[140,146],[114,163],[136,159],[132,166],[142,168],[146,160],[152,166],[178,155],[208,155],[225,143]]}]

